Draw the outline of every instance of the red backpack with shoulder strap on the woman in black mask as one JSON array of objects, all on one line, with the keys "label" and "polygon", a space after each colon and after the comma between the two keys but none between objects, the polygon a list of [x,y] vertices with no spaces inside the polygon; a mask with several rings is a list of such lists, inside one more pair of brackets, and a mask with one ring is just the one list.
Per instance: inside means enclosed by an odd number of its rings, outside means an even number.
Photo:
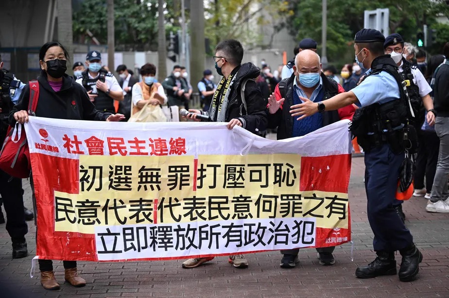
[{"label": "red backpack with shoulder strap on the woman in black mask", "polygon": [[[39,83],[30,81],[30,102],[28,114],[34,115],[39,98]],[[23,124],[16,123],[9,126],[5,141],[0,152],[0,169],[5,173],[17,177],[28,178],[31,172],[30,149]]]}]

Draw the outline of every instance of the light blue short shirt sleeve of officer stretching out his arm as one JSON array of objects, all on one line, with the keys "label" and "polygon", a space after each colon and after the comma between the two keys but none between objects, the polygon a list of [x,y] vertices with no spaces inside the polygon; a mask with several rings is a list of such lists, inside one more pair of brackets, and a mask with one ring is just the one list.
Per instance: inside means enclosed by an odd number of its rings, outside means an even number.
[{"label": "light blue short shirt sleeve of officer stretching out his arm", "polygon": [[[371,69],[368,69],[366,74],[370,72]],[[374,103],[384,104],[400,98],[396,79],[386,71],[365,78],[359,86],[356,86],[350,92],[353,92],[359,100],[356,103],[359,108]]]}]

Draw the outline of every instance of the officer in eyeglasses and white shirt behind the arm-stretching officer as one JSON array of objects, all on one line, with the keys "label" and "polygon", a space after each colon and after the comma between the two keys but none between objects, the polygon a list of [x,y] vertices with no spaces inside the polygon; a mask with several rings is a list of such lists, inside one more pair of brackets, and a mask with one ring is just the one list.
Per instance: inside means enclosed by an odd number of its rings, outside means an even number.
[{"label": "officer in eyeglasses and white shirt behind the arm-stretching officer", "polygon": [[[429,115],[428,119],[430,120],[428,121],[428,124],[432,126],[435,123],[435,111],[433,110],[433,101],[430,96],[432,88],[429,86],[429,83],[419,69],[406,60],[402,36],[397,33],[390,34],[385,38],[383,47],[385,49],[385,54],[390,54],[391,58],[398,66],[398,71],[402,78],[408,82],[407,93],[409,94],[410,103],[415,115],[411,120],[418,133],[418,146],[423,149],[423,142],[426,142],[426,138],[421,132],[421,126],[424,124],[424,121],[427,121],[425,120],[426,110]],[[425,152],[422,152],[419,147],[417,163],[419,163],[419,159],[425,157],[426,154]],[[430,188],[431,186],[428,187]],[[414,196],[423,195],[426,195],[426,189],[424,188],[423,183],[421,183],[421,185],[415,185]],[[427,196],[430,196],[430,194],[427,194]],[[395,200],[394,207],[401,220],[405,221],[405,214],[402,211],[402,202],[403,201]]]}]

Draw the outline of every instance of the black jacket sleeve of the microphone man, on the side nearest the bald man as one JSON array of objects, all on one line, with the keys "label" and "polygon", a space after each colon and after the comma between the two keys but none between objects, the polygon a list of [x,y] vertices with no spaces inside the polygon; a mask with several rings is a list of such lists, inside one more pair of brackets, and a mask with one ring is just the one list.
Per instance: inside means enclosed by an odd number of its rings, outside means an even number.
[{"label": "black jacket sleeve of the microphone man, on the side nearest the bald man", "polygon": [[267,99],[263,98],[254,80],[246,83],[245,101],[248,107],[247,115],[239,118],[243,128],[252,133],[265,131],[268,125]]}]

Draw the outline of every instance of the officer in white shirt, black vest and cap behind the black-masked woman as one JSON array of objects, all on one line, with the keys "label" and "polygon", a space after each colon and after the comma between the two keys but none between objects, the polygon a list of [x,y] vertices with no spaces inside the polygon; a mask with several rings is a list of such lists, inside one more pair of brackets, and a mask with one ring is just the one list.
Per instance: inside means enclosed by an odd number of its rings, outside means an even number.
[{"label": "officer in white shirt, black vest and cap behind the black-masked woman", "polygon": [[90,51],[86,55],[87,69],[76,82],[82,85],[95,109],[115,113],[114,100],[123,100],[123,90],[111,73],[101,69],[102,56],[99,51]]}]

